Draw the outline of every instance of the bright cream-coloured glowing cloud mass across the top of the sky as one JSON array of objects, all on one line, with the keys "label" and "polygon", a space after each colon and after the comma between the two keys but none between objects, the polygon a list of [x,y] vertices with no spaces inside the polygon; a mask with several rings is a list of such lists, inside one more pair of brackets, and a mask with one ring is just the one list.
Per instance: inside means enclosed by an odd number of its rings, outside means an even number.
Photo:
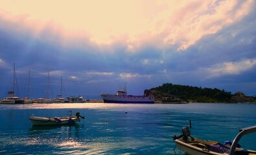
[{"label": "bright cream-coloured glowing cloud mass across the top of the sky", "polygon": [[[50,5],[45,1],[1,1],[0,17],[10,23],[19,23],[20,32],[29,28],[34,37],[52,38],[53,43],[61,45],[74,39],[80,46],[86,40],[97,45],[112,45],[122,40],[126,43],[126,50],[132,52],[145,43],[154,43],[159,48],[176,45],[177,50],[185,50],[205,35],[215,34],[240,21],[253,9],[254,2],[198,0],[144,3],[54,1]],[[45,30],[51,31],[51,37],[44,35]]]}]

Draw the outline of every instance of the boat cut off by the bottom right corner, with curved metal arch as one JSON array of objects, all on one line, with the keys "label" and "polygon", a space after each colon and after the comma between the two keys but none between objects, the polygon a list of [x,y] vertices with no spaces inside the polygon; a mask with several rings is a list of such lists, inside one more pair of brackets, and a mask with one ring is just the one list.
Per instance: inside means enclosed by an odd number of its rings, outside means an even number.
[{"label": "boat cut off by the bottom right corner, with curved metal arch", "polygon": [[245,134],[256,132],[256,126],[240,129],[239,134],[233,143],[219,143],[198,138],[192,138],[189,127],[182,128],[181,136],[174,136],[176,146],[188,155],[256,155],[254,150],[244,150],[240,148],[239,140]]}]

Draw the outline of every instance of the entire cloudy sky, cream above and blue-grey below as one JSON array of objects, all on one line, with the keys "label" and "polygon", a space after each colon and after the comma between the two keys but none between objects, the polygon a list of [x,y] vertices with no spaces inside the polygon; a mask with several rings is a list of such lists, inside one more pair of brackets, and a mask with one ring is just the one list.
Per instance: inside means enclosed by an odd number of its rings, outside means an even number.
[{"label": "entire cloudy sky, cream above and blue-grey below", "polygon": [[[256,2],[0,0],[0,98],[142,95],[163,83],[256,95]],[[29,76],[30,70],[30,76]],[[49,79],[48,80],[48,72]],[[18,90],[17,90],[18,88]]]}]

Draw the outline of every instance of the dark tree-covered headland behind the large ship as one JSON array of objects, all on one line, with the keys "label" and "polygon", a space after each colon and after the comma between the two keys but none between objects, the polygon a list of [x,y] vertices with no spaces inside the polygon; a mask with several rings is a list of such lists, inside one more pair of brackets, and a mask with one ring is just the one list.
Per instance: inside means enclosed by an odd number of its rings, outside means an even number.
[{"label": "dark tree-covered headland behind the large ship", "polygon": [[231,94],[224,89],[202,88],[165,83],[145,90],[154,95],[155,103],[256,103],[256,98],[242,92]]}]

